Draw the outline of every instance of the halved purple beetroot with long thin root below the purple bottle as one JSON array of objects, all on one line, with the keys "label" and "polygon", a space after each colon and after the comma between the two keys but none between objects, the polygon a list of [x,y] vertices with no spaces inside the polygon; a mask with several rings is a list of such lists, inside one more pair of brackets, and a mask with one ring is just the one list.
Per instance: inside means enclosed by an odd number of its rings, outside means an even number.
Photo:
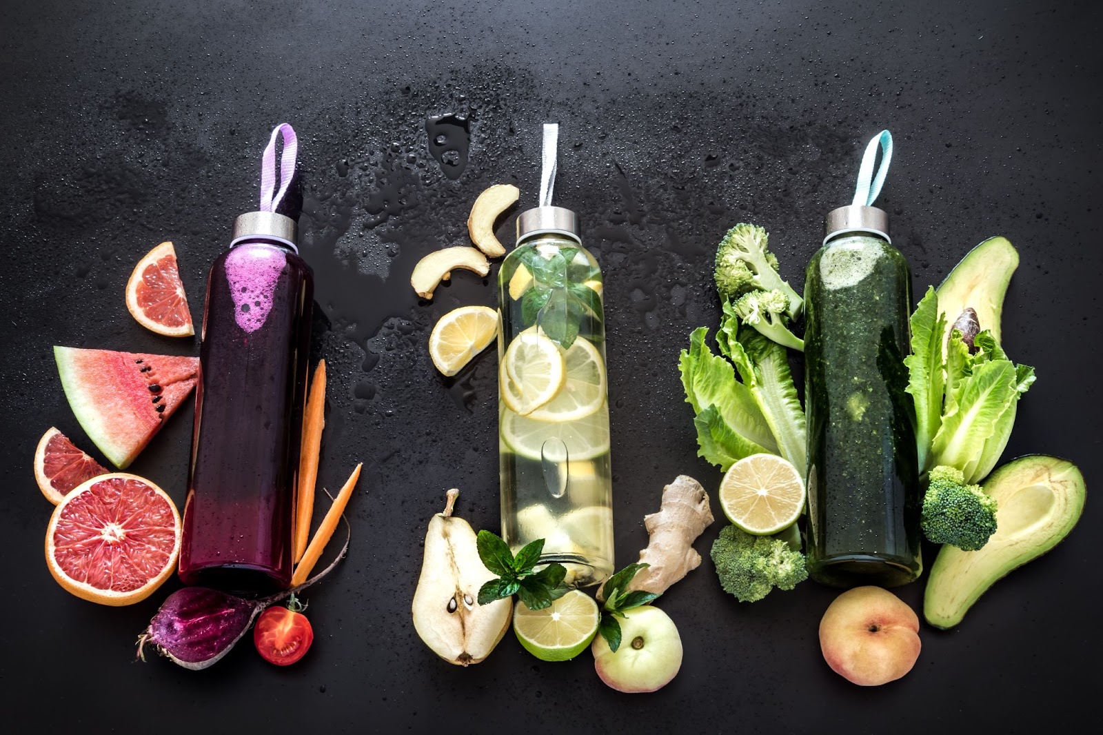
[{"label": "halved purple beetroot with long thin root below the purple bottle", "polygon": [[149,627],[138,637],[138,658],[146,660],[143,648],[151,643],[158,653],[185,669],[206,669],[226,656],[248,632],[265,608],[290,597],[329,574],[344,558],[349,540],[336,558],[313,577],[291,589],[245,599],[208,587],[182,587],[161,604]]}]

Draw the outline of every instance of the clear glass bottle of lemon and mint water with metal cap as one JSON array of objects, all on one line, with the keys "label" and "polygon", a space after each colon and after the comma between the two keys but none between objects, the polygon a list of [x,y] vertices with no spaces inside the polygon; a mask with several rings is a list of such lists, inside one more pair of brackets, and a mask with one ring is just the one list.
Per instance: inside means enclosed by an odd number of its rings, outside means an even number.
[{"label": "clear glass bottle of lemon and mint water with metal cap", "polygon": [[567,584],[599,584],[613,572],[602,281],[574,212],[518,216],[499,308],[503,537],[514,552],[544,539]]}]

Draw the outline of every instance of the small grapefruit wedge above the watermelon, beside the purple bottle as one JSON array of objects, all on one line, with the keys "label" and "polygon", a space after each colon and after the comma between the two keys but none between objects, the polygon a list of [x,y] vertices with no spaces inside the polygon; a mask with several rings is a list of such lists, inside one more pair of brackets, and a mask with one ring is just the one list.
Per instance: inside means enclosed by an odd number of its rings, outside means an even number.
[{"label": "small grapefruit wedge above the watermelon, beside the purple bottle", "polygon": [[139,324],[158,334],[195,333],[172,243],[161,243],[135,266],[127,281],[127,310]]}]

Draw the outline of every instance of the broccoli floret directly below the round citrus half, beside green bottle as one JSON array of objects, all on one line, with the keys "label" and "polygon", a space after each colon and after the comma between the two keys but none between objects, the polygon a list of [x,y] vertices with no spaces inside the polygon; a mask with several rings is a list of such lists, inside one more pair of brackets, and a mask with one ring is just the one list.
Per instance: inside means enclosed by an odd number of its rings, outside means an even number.
[{"label": "broccoli floret directly below the round citrus half, beside green bottle", "polygon": [[792,589],[808,578],[804,554],[784,539],[756,536],[735,525],[720,531],[711,556],[724,592],[740,603],[760,600],[774,587]]}]

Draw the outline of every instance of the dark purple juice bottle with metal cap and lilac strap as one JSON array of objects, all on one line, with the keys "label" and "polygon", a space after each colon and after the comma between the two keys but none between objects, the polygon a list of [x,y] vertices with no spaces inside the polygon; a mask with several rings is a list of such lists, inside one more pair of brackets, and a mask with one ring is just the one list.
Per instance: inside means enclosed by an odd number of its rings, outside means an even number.
[{"label": "dark purple juice bottle with metal cap and lilac strap", "polygon": [[[276,139],[283,137],[274,194]],[[180,579],[237,594],[291,582],[313,274],[295,220],[276,213],[295,172],[295,131],[265,151],[259,212],[234,223],[207,279],[184,503]]]}]

